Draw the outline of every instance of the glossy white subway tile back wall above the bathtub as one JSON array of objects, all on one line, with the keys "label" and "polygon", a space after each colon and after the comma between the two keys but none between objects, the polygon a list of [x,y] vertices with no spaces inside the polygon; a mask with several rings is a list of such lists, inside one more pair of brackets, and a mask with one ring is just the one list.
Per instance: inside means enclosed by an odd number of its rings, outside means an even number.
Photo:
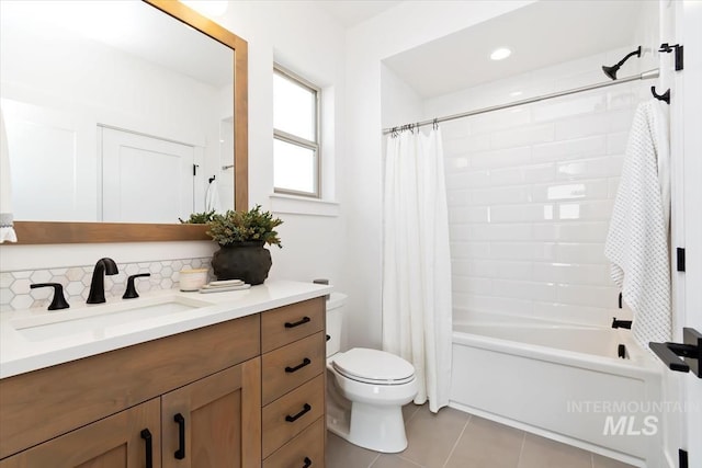
[{"label": "glossy white subway tile back wall above the bathtub", "polygon": [[[509,101],[517,90],[526,94],[512,100],[605,81],[600,66],[620,54],[482,84],[429,101],[427,110],[449,115]],[[629,129],[648,84],[441,125],[455,320],[471,310],[600,326],[631,318],[618,308],[603,250]]]}]

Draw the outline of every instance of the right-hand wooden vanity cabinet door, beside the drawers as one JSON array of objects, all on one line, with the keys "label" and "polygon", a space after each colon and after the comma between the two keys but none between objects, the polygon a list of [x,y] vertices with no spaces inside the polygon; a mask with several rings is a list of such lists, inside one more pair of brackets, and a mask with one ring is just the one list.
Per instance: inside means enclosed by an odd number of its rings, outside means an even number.
[{"label": "right-hand wooden vanity cabinet door, beside the drawers", "polygon": [[163,468],[260,466],[260,357],[163,395],[161,418]]}]

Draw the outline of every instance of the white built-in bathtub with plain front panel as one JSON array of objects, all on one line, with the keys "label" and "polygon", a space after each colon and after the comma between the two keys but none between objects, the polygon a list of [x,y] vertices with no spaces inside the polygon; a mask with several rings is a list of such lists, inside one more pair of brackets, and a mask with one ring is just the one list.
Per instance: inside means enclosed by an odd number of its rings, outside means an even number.
[{"label": "white built-in bathtub with plain front panel", "polygon": [[630,330],[469,317],[453,326],[451,407],[634,466],[663,466],[661,366]]}]

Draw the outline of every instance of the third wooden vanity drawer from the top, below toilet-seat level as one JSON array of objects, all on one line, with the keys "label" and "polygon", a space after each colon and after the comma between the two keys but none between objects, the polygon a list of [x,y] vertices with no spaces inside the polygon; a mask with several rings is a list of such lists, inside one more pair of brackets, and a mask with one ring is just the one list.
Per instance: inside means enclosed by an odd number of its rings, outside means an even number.
[{"label": "third wooden vanity drawer from the top, below toilet-seat level", "polygon": [[263,408],[263,457],[275,452],[324,413],[324,375],[315,377]]}]

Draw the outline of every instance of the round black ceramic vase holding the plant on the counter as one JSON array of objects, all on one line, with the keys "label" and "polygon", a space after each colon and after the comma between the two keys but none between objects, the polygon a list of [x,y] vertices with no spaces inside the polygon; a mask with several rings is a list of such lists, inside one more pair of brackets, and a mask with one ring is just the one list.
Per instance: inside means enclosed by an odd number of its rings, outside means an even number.
[{"label": "round black ceramic vase holding the plant on the counter", "polygon": [[220,247],[212,255],[212,269],[219,281],[241,279],[250,285],[262,284],[272,264],[271,252],[259,241]]}]

